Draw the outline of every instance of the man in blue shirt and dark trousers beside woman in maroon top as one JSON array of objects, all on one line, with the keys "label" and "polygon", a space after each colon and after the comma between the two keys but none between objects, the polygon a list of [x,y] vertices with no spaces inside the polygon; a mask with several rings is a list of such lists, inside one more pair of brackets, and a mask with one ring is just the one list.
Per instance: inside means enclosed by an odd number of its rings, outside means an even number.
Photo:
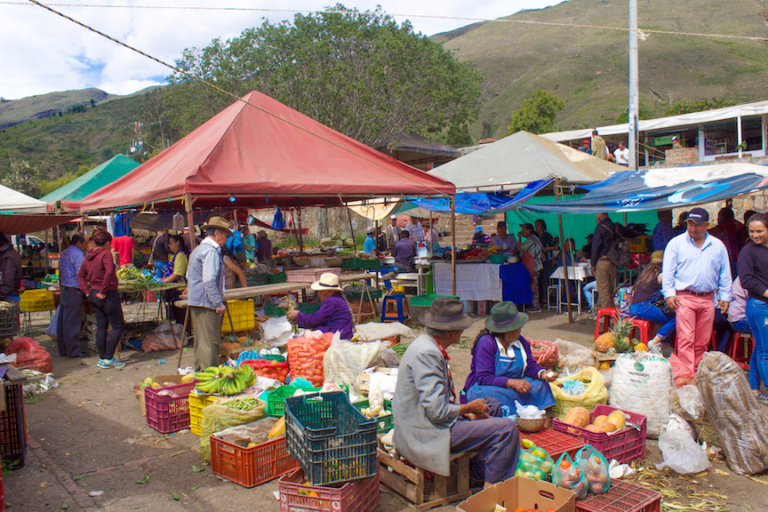
[{"label": "man in blue shirt and dark trousers beside woman in maroon top", "polygon": [[56,344],[62,357],[86,357],[80,350],[82,327],[83,292],[77,284],[77,273],[85,259],[85,236],[72,235],[69,247],[59,258],[59,315],[56,320]]}]

